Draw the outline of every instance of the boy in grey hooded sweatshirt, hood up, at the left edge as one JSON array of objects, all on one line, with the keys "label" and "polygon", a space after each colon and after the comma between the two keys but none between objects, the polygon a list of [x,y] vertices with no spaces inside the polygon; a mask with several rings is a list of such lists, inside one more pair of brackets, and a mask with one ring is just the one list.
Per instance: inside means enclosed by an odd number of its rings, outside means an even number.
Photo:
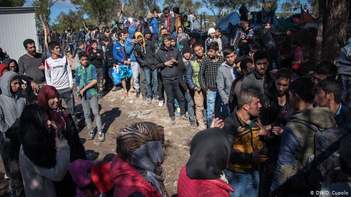
[{"label": "boy in grey hooded sweatshirt, hood up, at the left edge", "polygon": [[1,77],[0,87],[0,131],[1,131],[1,156],[5,166],[6,175],[10,176],[9,142],[5,132],[21,116],[23,108],[28,104],[26,97],[21,94],[21,76],[14,71],[7,71]]}]

